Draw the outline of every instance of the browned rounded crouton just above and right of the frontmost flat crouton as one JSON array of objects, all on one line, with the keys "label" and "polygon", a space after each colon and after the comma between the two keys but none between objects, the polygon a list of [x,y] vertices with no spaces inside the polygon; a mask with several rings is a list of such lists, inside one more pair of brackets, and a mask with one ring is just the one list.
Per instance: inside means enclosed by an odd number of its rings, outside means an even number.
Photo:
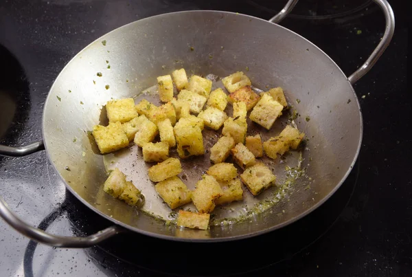
[{"label": "browned rounded crouton just above and right of the frontmost flat crouton", "polygon": [[198,212],[209,213],[215,208],[216,199],[222,196],[223,191],[214,177],[203,175],[201,181],[196,183],[192,192],[192,201]]}]

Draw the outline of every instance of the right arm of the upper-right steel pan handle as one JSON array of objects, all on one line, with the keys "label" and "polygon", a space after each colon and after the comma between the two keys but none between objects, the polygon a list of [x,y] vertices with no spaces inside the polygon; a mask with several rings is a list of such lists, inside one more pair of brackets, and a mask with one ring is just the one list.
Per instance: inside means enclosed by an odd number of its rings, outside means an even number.
[{"label": "right arm of the upper-right steel pan handle", "polygon": [[385,14],[385,34],[383,34],[380,43],[374,49],[374,52],[372,52],[371,56],[367,58],[365,63],[361,67],[359,67],[359,69],[356,70],[351,76],[349,76],[349,78],[347,78],[352,85],[354,85],[356,81],[358,81],[365,74],[367,74],[367,72],[375,65],[375,63],[378,61],[378,59],[383,54],[385,49],[387,49],[389,43],[391,42],[393,32],[395,31],[395,16],[393,15],[391,5],[389,5],[387,0],[374,1],[380,6],[382,12]]}]

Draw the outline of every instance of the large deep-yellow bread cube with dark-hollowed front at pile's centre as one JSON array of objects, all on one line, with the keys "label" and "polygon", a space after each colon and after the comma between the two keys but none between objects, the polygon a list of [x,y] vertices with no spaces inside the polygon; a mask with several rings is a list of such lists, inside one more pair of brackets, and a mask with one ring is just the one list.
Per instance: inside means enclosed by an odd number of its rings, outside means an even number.
[{"label": "large deep-yellow bread cube with dark-hollowed front at pile's centre", "polygon": [[205,154],[202,130],[196,126],[196,123],[176,124],[174,126],[174,135],[176,137],[177,153],[182,159]]}]

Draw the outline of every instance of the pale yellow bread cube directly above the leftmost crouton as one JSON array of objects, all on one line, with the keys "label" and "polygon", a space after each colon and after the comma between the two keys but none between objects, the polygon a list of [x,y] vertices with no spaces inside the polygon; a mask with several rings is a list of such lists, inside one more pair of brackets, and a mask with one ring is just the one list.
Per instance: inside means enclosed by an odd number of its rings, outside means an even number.
[{"label": "pale yellow bread cube directly above the leftmost crouton", "polygon": [[106,113],[109,123],[128,122],[138,116],[133,98],[108,101]]}]

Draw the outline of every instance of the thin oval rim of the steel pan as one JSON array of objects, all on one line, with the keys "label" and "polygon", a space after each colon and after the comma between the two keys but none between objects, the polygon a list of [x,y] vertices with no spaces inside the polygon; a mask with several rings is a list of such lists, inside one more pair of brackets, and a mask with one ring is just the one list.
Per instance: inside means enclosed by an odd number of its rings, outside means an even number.
[{"label": "thin oval rim of the steel pan", "polygon": [[[73,62],[73,60],[75,60],[78,56],[80,56],[82,54],[82,52],[84,52],[85,49],[88,49],[94,43],[96,43],[98,41],[101,41],[108,34],[111,34],[112,32],[117,32],[117,31],[119,31],[120,29],[122,29],[124,27],[136,24],[137,22],[142,23],[144,21],[149,21],[149,20],[152,20],[152,19],[155,19],[155,18],[158,18],[158,17],[170,16],[170,15],[179,15],[179,14],[186,14],[186,13],[205,13],[205,12],[206,13],[218,13],[218,14],[231,14],[231,15],[236,15],[236,16],[245,16],[248,19],[255,19],[255,20],[259,20],[259,21],[264,21],[265,23],[268,23],[268,24],[277,25],[277,27],[281,27],[282,29],[286,30],[287,32],[292,33],[294,36],[297,36],[300,39],[303,39],[304,41],[306,41],[307,43],[310,43],[310,45],[312,45],[312,47],[316,48],[319,52],[321,52],[321,54],[323,54],[325,56],[325,58],[328,58],[328,60],[330,60],[330,62],[336,67],[336,69],[339,69],[341,74],[347,80],[347,83],[348,83],[352,93],[355,96],[356,104],[358,105],[359,120],[360,120],[359,129],[360,130],[359,130],[358,146],[356,148],[356,153],[354,153],[354,158],[352,160],[352,163],[350,164],[350,167],[347,168],[345,175],[343,175],[343,177],[341,178],[341,181],[339,181],[339,183],[336,184],[336,186],[334,186],[334,188],[328,193],[328,195],[323,197],[323,199],[321,199],[319,202],[317,202],[314,206],[308,208],[307,210],[305,210],[304,212],[302,212],[298,216],[293,217],[292,219],[289,219],[288,221],[284,221],[283,223],[271,226],[269,228],[266,228],[264,230],[260,230],[260,231],[257,231],[257,232],[252,232],[252,233],[249,233],[249,234],[239,234],[239,235],[235,235],[235,236],[207,238],[207,239],[187,239],[187,238],[178,237],[178,236],[169,236],[169,235],[165,235],[165,234],[157,234],[157,233],[154,233],[154,232],[148,232],[146,230],[141,230],[137,227],[133,227],[133,226],[128,225],[126,223],[123,223],[121,221],[117,221],[117,219],[113,219],[113,217],[109,217],[107,214],[104,214],[103,212],[101,212],[100,210],[98,210],[97,208],[92,206],[88,201],[86,201],[82,197],[80,197],[80,195],[78,195],[78,193],[75,190],[73,190],[73,188],[71,188],[71,186],[69,186],[69,184],[67,184],[67,181],[65,181],[65,179],[62,177],[62,175],[60,174],[60,171],[56,168],[56,165],[52,161],[52,157],[49,154],[48,146],[47,146],[47,140],[45,139],[47,137],[47,136],[45,136],[45,128],[44,128],[45,121],[46,121],[45,110],[47,109],[47,107],[49,107],[49,101],[50,101],[50,98],[51,98],[51,96],[50,96],[51,91],[53,91],[54,86],[56,85],[56,81],[58,80],[58,78],[60,78],[60,75],[62,75],[65,72],[65,69],[67,69],[67,67]],[[248,238],[252,238],[254,236],[259,236],[261,234],[266,234],[268,232],[273,232],[273,231],[278,230],[280,228],[284,228],[285,226],[290,225],[291,223],[294,223],[295,221],[298,221],[299,219],[302,219],[302,218],[306,217],[308,214],[310,214],[311,212],[313,212],[314,210],[319,208],[323,203],[325,203],[325,201],[330,199],[330,197],[332,197],[332,195],[334,195],[336,190],[338,190],[341,187],[341,185],[343,184],[343,182],[347,179],[347,176],[351,173],[352,169],[354,168],[354,164],[356,163],[356,161],[358,159],[358,155],[361,151],[361,145],[362,145],[362,140],[363,140],[363,115],[362,115],[362,110],[361,110],[361,104],[359,102],[358,96],[356,95],[356,92],[354,91],[354,87],[352,86],[350,81],[347,79],[347,76],[343,73],[341,67],[339,67],[334,62],[334,60],[332,60],[332,58],[330,58],[330,56],[328,56],[328,54],[323,52],[323,50],[321,48],[319,48],[317,45],[315,45],[314,43],[309,41],[307,38],[304,38],[304,36],[301,36],[300,34],[297,34],[296,32],[293,32],[292,30],[289,30],[288,28],[283,27],[282,25],[278,25],[276,23],[271,23],[271,22],[269,22],[265,19],[260,19],[256,16],[251,16],[251,15],[247,15],[247,14],[240,14],[240,13],[237,13],[237,12],[227,12],[227,11],[222,11],[222,10],[184,10],[184,11],[179,11],[179,12],[168,12],[168,13],[163,13],[163,14],[157,14],[155,16],[149,16],[149,17],[146,17],[146,18],[143,18],[143,19],[139,19],[137,21],[127,23],[127,24],[122,25],[120,27],[117,27],[114,30],[112,30],[110,32],[107,32],[106,34],[103,34],[99,38],[96,38],[94,41],[92,41],[87,46],[85,46],[82,50],[80,50],[80,52],[78,52],[75,56],[73,56],[73,58],[71,58],[71,60],[69,60],[69,62],[65,65],[65,67],[63,67],[63,69],[60,71],[60,73],[58,74],[58,76],[54,80],[52,86],[50,87],[49,92],[47,93],[47,98],[45,100],[45,104],[44,104],[44,107],[43,107],[43,114],[42,114],[42,135],[43,135],[43,140],[44,140],[44,145],[45,145],[45,152],[47,153],[47,159],[52,164],[52,166],[56,170],[56,172],[58,173],[58,176],[60,177],[60,179],[62,179],[62,181],[65,184],[66,188],[80,202],[82,202],[85,206],[87,206],[87,208],[90,208],[94,212],[98,213],[101,217],[104,217],[105,219],[108,219],[108,221],[113,222],[113,224],[120,225],[123,228],[126,228],[127,230],[137,232],[139,234],[144,234],[146,236],[151,236],[151,237],[157,238],[157,239],[165,239],[165,240],[169,240],[169,241],[181,241],[181,242],[188,242],[188,243],[190,243],[190,242],[196,242],[196,243],[216,242],[217,243],[217,242],[223,242],[223,241],[238,241],[238,240],[241,240],[241,239],[248,239]]]}]

